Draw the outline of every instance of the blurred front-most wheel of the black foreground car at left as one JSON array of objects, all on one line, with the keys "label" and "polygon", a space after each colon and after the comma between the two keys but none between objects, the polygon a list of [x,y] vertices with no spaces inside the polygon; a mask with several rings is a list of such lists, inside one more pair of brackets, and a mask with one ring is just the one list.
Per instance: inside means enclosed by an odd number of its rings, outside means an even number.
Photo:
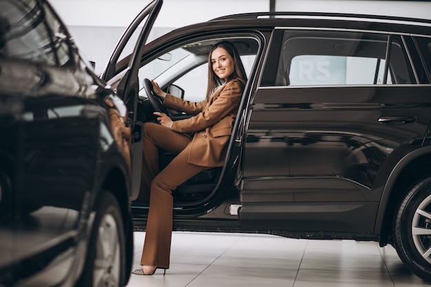
[{"label": "blurred front-most wheel of the black foreground car at left", "polygon": [[104,192],[96,204],[87,260],[76,286],[124,286],[125,235],[120,206],[109,192]]}]

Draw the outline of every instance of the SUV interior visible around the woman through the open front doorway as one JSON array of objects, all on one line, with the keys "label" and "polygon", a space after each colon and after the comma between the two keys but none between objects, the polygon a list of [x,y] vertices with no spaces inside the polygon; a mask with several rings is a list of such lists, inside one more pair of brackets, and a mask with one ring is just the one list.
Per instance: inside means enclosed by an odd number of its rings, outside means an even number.
[{"label": "SUV interior visible around the woman through the open front doorway", "polygon": [[[166,109],[162,106],[162,100],[160,100],[156,94],[153,94],[153,92],[147,94],[147,90],[152,88],[149,78],[151,76],[151,78],[169,94],[186,100],[193,100],[194,102],[203,100],[207,86],[207,61],[209,52],[215,43],[223,40],[231,41],[235,47],[237,47],[246,72],[249,74],[258,49],[258,43],[253,38],[217,38],[182,45],[176,50],[158,56],[158,58],[153,61],[155,65],[160,65],[160,63],[164,64],[164,68],[159,72],[160,74],[149,75],[151,73],[148,73],[148,70],[154,71],[154,69],[149,69],[147,66],[141,68],[139,74],[142,86],[140,86],[139,92],[137,120],[142,123],[156,123],[156,118],[152,113],[158,110],[162,110],[168,114],[172,120],[181,120],[191,117],[192,115],[189,114]],[[180,56],[177,56],[178,54],[180,54]],[[196,75],[198,75],[197,78]],[[189,77],[189,80],[187,80],[187,77]],[[181,85],[181,83],[185,83],[187,87]],[[147,85],[147,88],[145,88],[145,85]],[[201,86],[200,90],[196,90],[196,85]],[[194,90],[191,90],[193,88]],[[198,94],[198,97],[196,97],[196,94]],[[151,97],[153,97],[153,99],[151,99]],[[166,167],[175,156],[174,154],[160,150],[160,169]],[[193,178],[181,184],[173,192],[174,205],[180,204],[182,206],[187,206],[188,204],[196,204],[196,202],[211,197],[211,193],[217,186],[221,174],[222,167],[214,167],[193,176]],[[145,204],[145,202],[138,201],[138,204]]]}]

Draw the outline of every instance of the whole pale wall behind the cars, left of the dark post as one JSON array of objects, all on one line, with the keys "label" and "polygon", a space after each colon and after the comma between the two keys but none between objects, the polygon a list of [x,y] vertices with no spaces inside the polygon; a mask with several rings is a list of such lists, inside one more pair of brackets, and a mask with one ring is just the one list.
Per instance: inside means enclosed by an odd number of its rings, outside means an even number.
[{"label": "whole pale wall behind the cars, left of the dark post", "polygon": [[[96,73],[102,72],[125,28],[149,0],[50,0]],[[269,11],[269,0],[164,0],[150,38],[229,14]]]}]

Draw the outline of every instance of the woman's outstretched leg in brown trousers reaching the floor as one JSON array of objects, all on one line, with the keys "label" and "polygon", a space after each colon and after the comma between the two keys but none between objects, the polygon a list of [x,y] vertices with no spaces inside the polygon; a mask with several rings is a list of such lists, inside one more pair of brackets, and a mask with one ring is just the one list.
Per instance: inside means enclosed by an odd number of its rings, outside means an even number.
[{"label": "woman's outstretched leg in brown trousers reaching the floor", "polygon": [[209,167],[189,164],[187,145],[151,182],[149,214],[141,265],[169,268],[171,252],[172,191],[192,176]]}]

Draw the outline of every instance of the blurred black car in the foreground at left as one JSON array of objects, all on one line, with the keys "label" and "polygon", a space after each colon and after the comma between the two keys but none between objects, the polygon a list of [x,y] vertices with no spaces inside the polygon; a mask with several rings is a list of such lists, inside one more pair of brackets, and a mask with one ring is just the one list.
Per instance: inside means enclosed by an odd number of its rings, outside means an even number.
[{"label": "blurred black car in the foreground at left", "polygon": [[125,105],[45,0],[0,0],[0,286],[125,286]]}]

